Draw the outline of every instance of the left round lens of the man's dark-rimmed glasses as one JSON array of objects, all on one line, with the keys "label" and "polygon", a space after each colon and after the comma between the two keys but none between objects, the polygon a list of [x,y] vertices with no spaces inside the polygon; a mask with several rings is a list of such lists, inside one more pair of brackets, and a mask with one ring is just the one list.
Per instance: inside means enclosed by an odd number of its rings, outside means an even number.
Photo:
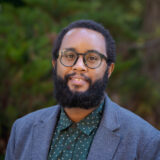
[{"label": "left round lens of the man's dark-rimmed glasses", "polygon": [[72,66],[77,58],[74,51],[65,50],[61,52],[61,63],[65,66]]}]

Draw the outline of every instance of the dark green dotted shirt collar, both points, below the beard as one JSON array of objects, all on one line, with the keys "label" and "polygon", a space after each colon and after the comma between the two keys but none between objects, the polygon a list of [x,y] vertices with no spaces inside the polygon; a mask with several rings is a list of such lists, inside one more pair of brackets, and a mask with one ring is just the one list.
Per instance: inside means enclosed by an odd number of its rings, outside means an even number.
[{"label": "dark green dotted shirt collar, both points, below the beard", "polygon": [[61,107],[58,130],[62,131],[70,127],[71,125],[76,124],[77,128],[80,129],[83,133],[90,135],[94,129],[98,128],[98,124],[101,120],[103,113],[103,104],[104,101],[100,104],[98,108],[96,108],[93,112],[91,112],[88,116],[86,116],[78,123],[74,123],[72,120],[70,120],[66,115],[63,107]]}]

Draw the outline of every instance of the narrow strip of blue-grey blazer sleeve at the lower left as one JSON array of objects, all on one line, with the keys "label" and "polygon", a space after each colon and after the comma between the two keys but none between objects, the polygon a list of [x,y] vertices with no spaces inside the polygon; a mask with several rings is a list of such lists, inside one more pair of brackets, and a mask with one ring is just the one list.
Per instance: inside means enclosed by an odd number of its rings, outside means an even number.
[{"label": "narrow strip of blue-grey blazer sleeve at the lower left", "polygon": [[11,129],[10,138],[8,141],[7,149],[6,149],[6,155],[5,160],[15,160],[15,137],[16,137],[16,123],[13,124]]}]

